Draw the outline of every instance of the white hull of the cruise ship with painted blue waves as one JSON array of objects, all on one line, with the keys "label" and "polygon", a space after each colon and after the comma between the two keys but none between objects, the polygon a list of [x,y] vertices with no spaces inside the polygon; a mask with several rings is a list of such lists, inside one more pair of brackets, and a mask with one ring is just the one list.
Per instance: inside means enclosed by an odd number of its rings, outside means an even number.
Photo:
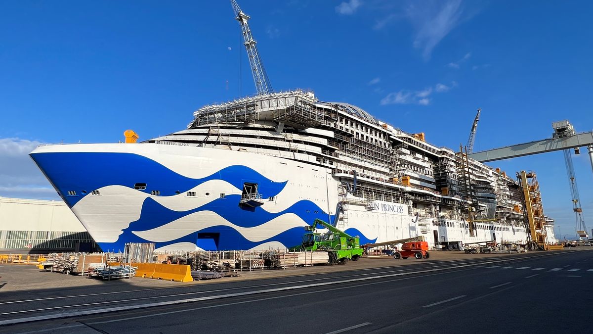
[{"label": "white hull of the cruise ship with painted blue waves", "polygon": [[[300,244],[304,226],[329,221],[361,244],[423,237],[525,241],[524,231],[488,225],[470,235],[457,220],[416,218],[407,204],[340,192],[331,170],[237,150],[164,144],[42,146],[31,158],[103,251],[126,242],[160,250],[247,250]],[[256,184],[262,205],[243,205]],[[486,226],[486,225],[484,225]]]}]

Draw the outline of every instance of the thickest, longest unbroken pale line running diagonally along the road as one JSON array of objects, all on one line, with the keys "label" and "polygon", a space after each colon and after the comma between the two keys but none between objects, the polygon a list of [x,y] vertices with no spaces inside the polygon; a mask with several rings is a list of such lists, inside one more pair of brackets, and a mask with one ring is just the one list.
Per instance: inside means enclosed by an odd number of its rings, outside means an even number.
[{"label": "thickest, longest unbroken pale line running diagonally along the road", "polygon": [[[551,254],[546,254],[546,255],[541,255],[541,256],[521,257],[518,259],[485,261],[482,263],[488,264],[488,263],[517,261],[517,260],[533,260],[533,259],[537,259],[538,257],[554,256],[554,255],[560,255],[560,254],[567,254],[567,253],[551,253]],[[88,316],[91,314],[110,313],[110,312],[116,312],[116,311],[136,310],[139,308],[193,303],[196,301],[216,300],[216,299],[222,299],[222,298],[240,297],[240,296],[244,296],[244,295],[264,294],[264,293],[277,292],[277,291],[289,291],[289,290],[294,290],[294,289],[312,288],[312,287],[316,287],[316,286],[326,286],[326,285],[334,285],[334,284],[340,284],[340,283],[368,281],[371,279],[381,279],[381,278],[389,278],[389,277],[396,277],[396,276],[413,275],[416,273],[440,272],[443,270],[451,270],[451,269],[458,269],[458,268],[464,268],[464,267],[474,267],[479,264],[480,264],[480,262],[477,262],[475,264],[460,264],[457,266],[444,267],[444,268],[438,268],[438,269],[419,270],[417,272],[394,273],[394,274],[389,274],[389,275],[379,275],[379,276],[369,276],[369,277],[364,277],[364,278],[346,279],[346,280],[342,280],[342,281],[332,281],[332,282],[323,282],[323,283],[312,283],[312,284],[306,284],[306,285],[285,286],[283,288],[273,288],[273,289],[248,291],[248,292],[237,292],[235,294],[188,298],[188,299],[184,299],[184,300],[162,301],[162,302],[158,302],[158,303],[126,305],[126,306],[120,306],[120,307],[99,308],[99,309],[94,309],[94,310],[74,311],[74,312],[69,312],[69,313],[46,314],[43,316],[34,316],[34,317],[2,320],[2,321],[0,321],[0,326],[6,325],[6,324],[36,322],[36,321],[42,321],[42,320],[61,319],[61,318],[67,318],[67,317]],[[57,307],[57,308],[63,308],[63,307]],[[5,313],[5,314],[8,314],[8,313]]]}]

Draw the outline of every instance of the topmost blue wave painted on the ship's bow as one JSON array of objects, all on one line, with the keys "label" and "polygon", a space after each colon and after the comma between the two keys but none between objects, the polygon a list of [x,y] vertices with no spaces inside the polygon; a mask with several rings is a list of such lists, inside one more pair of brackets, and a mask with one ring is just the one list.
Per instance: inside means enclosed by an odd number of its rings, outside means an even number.
[{"label": "topmost blue wave painted on the ship's bow", "polygon": [[[204,178],[188,178],[133,153],[51,152],[31,153],[30,156],[70,207],[91,191],[107,185],[133,188],[140,182],[146,183],[146,189],[142,190],[146,194],[158,190],[160,196],[174,196],[177,191],[184,192],[203,182],[221,179],[238,189],[243,189],[244,182],[257,183],[257,191],[266,198],[277,196],[287,182],[274,182],[242,165],[228,166]],[[68,196],[70,190],[77,195]]]}]

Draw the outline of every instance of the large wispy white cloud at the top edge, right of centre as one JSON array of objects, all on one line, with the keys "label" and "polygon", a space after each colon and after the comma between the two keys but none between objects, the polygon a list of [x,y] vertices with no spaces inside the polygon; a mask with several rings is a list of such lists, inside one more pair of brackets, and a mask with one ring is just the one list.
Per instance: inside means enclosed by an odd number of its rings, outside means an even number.
[{"label": "large wispy white cloud at the top edge, right of centre", "polygon": [[422,49],[425,59],[431,58],[432,49],[457,26],[461,20],[461,0],[415,2],[406,11],[416,29],[414,46]]}]

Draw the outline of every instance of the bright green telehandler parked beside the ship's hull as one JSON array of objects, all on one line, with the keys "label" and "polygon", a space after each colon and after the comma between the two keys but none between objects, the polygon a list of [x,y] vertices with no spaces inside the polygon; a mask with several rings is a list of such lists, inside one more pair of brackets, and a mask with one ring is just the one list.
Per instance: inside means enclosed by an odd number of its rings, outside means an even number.
[{"label": "bright green telehandler parked beside the ship's hull", "polygon": [[[315,228],[321,225],[329,231],[317,233]],[[349,260],[358,261],[362,256],[359,237],[352,237],[344,231],[331,226],[321,219],[315,219],[313,225],[305,226],[302,244],[291,248],[291,251],[325,251],[329,253],[328,263],[346,264]]]}]

